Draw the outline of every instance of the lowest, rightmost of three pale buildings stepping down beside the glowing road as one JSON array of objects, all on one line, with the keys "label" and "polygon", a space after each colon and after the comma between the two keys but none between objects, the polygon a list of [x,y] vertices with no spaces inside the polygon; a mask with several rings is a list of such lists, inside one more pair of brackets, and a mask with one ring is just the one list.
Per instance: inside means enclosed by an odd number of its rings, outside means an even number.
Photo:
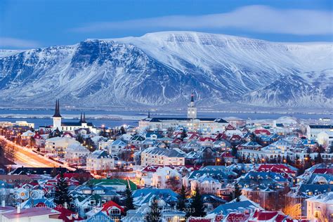
[{"label": "lowest, rightmost of three pale buildings stepping down beside the glowing road", "polygon": [[115,159],[104,150],[96,150],[86,157],[88,171],[108,171],[115,168]]}]

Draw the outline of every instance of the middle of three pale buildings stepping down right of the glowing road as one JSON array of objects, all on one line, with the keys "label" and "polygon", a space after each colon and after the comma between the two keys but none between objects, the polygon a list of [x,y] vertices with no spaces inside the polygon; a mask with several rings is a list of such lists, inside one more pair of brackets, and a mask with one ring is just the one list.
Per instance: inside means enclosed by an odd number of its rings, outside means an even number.
[{"label": "middle of three pale buildings stepping down right of the glowing road", "polygon": [[74,143],[65,150],[65,161],[68,164],[86,164],[86,157],[90,151],[83,145]]}]

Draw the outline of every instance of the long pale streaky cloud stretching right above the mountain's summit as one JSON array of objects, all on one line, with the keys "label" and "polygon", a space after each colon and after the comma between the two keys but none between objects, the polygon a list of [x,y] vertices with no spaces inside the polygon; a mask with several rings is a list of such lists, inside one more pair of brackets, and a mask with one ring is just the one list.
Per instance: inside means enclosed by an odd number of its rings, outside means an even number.
[{"label": "long pale streaky cloud stretching right above the mountain's summit", "polygon": [[185,16],[172,15],[119,22],[94,22],[75,27],[74,32],[105,30],[164,29],[164,30],[221,30],[236,28],[261,33],[332,34],[333,18],[330,11],[304,9],[277,9],[268,6],[244,6],[229,13]]}]

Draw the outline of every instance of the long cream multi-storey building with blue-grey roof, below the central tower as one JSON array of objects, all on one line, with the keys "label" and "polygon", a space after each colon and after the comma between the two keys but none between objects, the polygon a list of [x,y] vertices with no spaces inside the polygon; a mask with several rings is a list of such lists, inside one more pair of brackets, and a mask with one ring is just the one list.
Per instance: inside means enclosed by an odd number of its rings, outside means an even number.
[{"label": "long cream multi-storey building with blue-grey roof, below the central tower", "polygon": [[183,166],[185,155],[174,149],[151,147],[141,152],[141,166]]}]

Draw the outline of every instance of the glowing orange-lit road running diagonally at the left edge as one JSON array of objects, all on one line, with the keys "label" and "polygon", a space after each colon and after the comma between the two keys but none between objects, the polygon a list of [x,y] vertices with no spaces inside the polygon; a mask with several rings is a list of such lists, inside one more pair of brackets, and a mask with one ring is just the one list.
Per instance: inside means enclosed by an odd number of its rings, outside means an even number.
[{"label": "glowing orange-lit road running diagonally at the left edge", "polygon": [[71,167],[68,167],[63,164],[59,164],[58,162],[53,161],[52,159],[48,159],[47,157],[43,157],[41,155],[38,155],[35,152],[32,152],[32,150],[22,147],[20,145],[17,145],[13,143],[12,141],[8,141],[4,136],[0,136],[0,140],[4,141],[6,143],[9,143],[11,145],[15,145],[16,152],[15,152],[15,163],[18,164],[18,166],[30,166],[30,167],[66,167],[67,169],[74,170]]}]

